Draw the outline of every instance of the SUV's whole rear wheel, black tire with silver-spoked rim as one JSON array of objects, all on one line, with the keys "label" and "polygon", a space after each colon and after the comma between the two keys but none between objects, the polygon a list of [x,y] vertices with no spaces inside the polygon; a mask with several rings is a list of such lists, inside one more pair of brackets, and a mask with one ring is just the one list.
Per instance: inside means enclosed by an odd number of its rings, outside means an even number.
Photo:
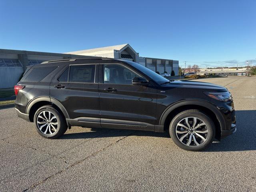
[{"label": "SUV's whole rear wheel, black tire with silver-spoked rim", "polygon": [[36,111],[34,123],[38,133],[48,139],[62,136],[68,128],[64,116],[51,105],[42,106]]}]

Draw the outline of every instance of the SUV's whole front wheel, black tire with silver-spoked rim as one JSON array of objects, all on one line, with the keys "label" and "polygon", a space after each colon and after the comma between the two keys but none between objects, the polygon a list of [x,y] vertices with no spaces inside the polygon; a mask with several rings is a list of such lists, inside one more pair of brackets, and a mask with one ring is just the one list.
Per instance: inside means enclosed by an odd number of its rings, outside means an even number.
[{"label": "SUV's whole front wheel, black tire with silver-spoked rim", "polygon": [[200,151],[212,143],[215,137],[215,126],[204,112],[185,110],[172,119],[169,132],[174,143],[180,148]]}]

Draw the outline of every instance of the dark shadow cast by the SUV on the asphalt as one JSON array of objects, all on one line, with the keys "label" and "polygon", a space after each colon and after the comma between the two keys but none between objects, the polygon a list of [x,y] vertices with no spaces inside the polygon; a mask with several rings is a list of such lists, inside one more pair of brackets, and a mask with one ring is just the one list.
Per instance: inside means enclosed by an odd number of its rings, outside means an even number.
[{"label": "dark shadow cast by the SUV on the asphalt", "polygon": [[[236,133],[223,138],[221,142],[212,143],[204,152],[246,151],[256,150],[256,110],[236,111]],[[128,136],[152,136],[170,138],[168,132],[157,133],[149,131],[118,130],[92,128],[92,132],[64,134],[59,139],[83,139]],[[97,132],[95,134],[95,132]]]}]

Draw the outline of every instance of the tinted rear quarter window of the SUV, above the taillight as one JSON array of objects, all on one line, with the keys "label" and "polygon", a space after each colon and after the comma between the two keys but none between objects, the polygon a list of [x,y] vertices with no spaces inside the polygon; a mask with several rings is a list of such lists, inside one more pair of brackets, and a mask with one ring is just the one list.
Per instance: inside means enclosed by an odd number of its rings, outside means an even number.
[{"label": "tinted rear quarter window of the SUV, above the taillight", "polygon": [[32,68],[24,82],[39,82],[56,68],[57,66]]}]

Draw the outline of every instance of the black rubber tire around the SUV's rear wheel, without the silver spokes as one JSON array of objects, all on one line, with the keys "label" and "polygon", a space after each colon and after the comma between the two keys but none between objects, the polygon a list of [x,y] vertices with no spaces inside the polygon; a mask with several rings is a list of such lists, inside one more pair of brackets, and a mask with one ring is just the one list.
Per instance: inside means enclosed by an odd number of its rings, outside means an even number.
[{"label": "black rubber tire around the SUV's rear wheel, without the silver spokes", "polygon": [[[39,128],[39,126],[38,126],[38,116],[39,116],[39,114],[41,114],[42,112],[46,112],[46,115],[47,114],[49,114],[49,112],[51,112],[52,113],[52,115],[54,115],[54,116],[56,116],[56,118],[54,118],[54,119],[56,119],[55,121],[57,122],[57,128],[56,128],[56,131],[54,132],[54,133],[52,133],[52,134],[44,134],[41,130],[40,130],[40,128]],[[40,120],[41,120],[41,118],[39,118]],[[58,138],[58,137],[60,137],[60,136],[62,136],[65,132],[66,132],[66,130],[68,129],[68,126],[67,126],[67,123],[66,123],[66,119],[65,119],[65,117],[63,116],[63,114],[59,111],[59,110],[57,110],[56,108],[54,108],[52,105],[45,105],[45,106],[42,106],[42,107],[40,107],[37,111],[36,111],[36,113],[35,113],[35,115],[34,115],[34,123],[35,123],[35,126],[36,126],[36,130],[37,130],[37,132],[41,135],[41,136],[43,136],[43,137],[45,137],[45,138],[48,138],[48,139],[56,139],[56,138]],[[42,125],[44,125],[44,120],[42,120]],[[40,124],[39,124],[40,125]],[[48,125],[48,124],[47,124]],[[54,125],[55,126],[55,125]],[[56,127],[56,126],[55,126]],[[50,128],[51,128],[51,126],[49,126],[49,128],[48,128],[48,130],[50,130]],[[43,128],[41,128],[41,129],[43,129]],[[46,126],[44,127],[44,129],[46,130]],[[51,130],[52,130],[52,132],[54,131],[52,128],[51,128]],[[49,132],[49,131],[48,131]],[[50,132],[49,132],[50,133]]]}]

